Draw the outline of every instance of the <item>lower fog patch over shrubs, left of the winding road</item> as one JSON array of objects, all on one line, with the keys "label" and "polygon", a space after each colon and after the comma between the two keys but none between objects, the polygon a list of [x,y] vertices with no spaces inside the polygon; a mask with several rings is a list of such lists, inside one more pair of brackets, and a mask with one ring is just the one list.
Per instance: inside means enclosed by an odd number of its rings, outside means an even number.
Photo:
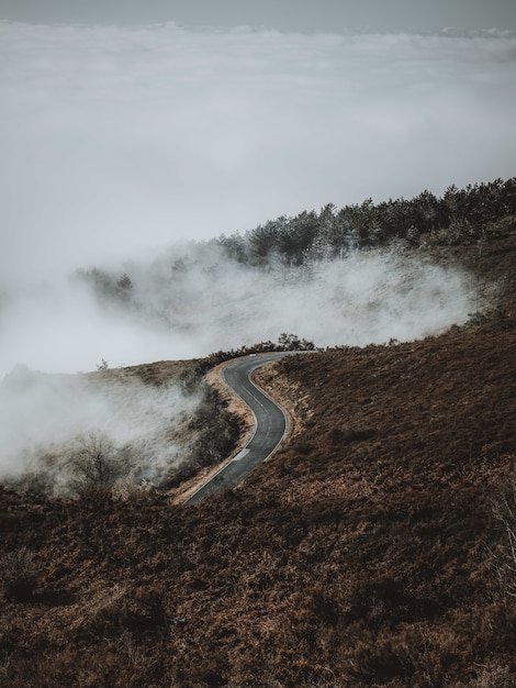
[{"label": "lower fog patch over shrubs, left of the winding road", "polygon": [[[105,465],[116,459],[124,485],[159,482],[183,458],[186,447],[171,435],[198,402],[178,386],[16,366],[0,385],[0,479],[38,476],[40,489],[68,495],[78,480],[77,462],[99,456]],[[78,484],[88,487],[83,477],[79,471]]]}]

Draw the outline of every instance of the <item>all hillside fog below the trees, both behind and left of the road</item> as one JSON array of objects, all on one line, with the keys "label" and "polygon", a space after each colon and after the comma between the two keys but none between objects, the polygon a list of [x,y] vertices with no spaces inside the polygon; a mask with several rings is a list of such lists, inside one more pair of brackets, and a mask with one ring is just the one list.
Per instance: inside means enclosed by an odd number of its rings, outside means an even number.
[{"label": "all hillside fog below the trees, both behind and left of the road", "polygon": [[407,341],[462,324],[483,306],[471,275],[397,246],[300,267],[272,256],[250,267],[215,242],[191,243],[124,268],[82,270],[5,299],[4,362],[26,365],[0,382],[0,478],[45,475],[54,492],[68,493],[85,437],[103,437],[124,456],[130,484],[159,482],[184,460],[187,448],[170,434],[197,398],[125,379],[123,370],[117,380],[31,369],[190,358],[276,343],[284,332],[317,346]]}]

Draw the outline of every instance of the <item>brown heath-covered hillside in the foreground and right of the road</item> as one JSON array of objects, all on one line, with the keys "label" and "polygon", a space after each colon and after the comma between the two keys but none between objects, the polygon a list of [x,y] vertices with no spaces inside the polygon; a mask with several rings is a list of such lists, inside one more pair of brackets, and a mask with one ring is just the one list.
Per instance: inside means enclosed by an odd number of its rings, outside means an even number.
[{"label": "brown heath-covered hillside in the foreground and right of the road", "polygon": [[3,489],[0,685],[514,686],[515,248],[428,248],[500,285],[465,328],[263,369],[296,432],[236,490]]}]

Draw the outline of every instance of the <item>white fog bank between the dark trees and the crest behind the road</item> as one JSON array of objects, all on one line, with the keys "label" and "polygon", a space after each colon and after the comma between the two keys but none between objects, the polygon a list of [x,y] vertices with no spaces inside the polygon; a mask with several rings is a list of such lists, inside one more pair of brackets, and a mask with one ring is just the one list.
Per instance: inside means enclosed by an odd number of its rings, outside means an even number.
[{"label": "white fog bank between the dark trees and the crest behind the road", "polygon": [[[276,342],[283,332],[317,346],[407,341],[462,324],[482,306],[471,276],[395,247],[257,268],[205,242],[99,274],[5,299],[7,369],[22,362],[74,373],[102,359],[117,367],[192,358]],[[117,293],[124,274],[131,289]]]}]

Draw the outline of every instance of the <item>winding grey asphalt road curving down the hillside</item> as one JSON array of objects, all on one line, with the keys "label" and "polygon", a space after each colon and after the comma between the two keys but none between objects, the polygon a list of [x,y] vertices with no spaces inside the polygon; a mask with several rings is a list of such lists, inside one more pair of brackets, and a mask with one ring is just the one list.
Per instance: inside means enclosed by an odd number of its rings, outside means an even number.
[{"label": "winding grey asphalt road curving down the hillside", "polygon": [[222,378],[249,407],[255,419],[255,431],[247,444],[225,466],[217,470],[184,500],[197,504],[209,495],[236,487],[277,448],[288,430],[287,414],[270,397],[250,380],[254,370],[287,353],[256,354],[236,358],[222,370]]}]

